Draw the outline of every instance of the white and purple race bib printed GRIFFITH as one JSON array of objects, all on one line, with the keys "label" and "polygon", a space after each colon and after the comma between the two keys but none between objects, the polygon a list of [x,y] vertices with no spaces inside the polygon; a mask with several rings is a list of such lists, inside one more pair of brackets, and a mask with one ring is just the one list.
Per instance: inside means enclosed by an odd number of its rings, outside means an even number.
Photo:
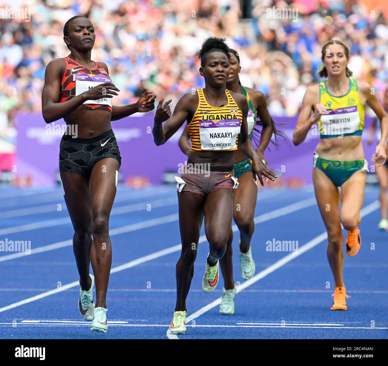
[{"label": "white and purple race bib printed GRIFFITH", "polygon": [[329,114],[320,117],[321,135],[343,135],[358,131],[360,116],[357,106],[328,109]]}]

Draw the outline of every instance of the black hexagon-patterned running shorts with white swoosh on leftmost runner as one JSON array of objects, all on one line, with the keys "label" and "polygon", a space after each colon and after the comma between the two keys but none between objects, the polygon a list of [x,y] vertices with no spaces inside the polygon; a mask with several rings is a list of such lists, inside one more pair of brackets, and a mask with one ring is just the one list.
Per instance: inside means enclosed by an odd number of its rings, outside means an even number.
[{"label": "black hexagon-patterned running shorts with white swoosh on leftmost runner", "polygon": [[90,139],[63,135],[59,147],[59,170],[90,176],[99,160],[113,158],[121,165],[120,151],[112,130]]}]

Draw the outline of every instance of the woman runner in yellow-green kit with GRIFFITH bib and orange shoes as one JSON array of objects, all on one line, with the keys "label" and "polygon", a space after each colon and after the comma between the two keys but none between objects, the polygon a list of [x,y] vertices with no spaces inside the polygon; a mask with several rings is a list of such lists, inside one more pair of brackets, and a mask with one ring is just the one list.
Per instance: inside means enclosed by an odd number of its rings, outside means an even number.
[{"label": "woman runner in yellow-green kit with GRIFFITH bib and orange shoes", "polygon": [[[332,310],[346,310],[343,282],[341,223],[347,230],[346,253],[354,256],[361,246],[360,210],[364,201],[368,163],[364,158],[361,135],[364,129],[364,104],[376,113],[381,125],[381,141],[376,146],[373,162],[384,164],[388,117],[371,86],[356,81],[348,69],[349,50],[339,40],[330,40],[322,48],[326,81],[310,86],[303,98],[293,143],[301,144],[318,124],[320,143],[314,153],[313,182],[315,197],[325,223],[329,245],[327,258],[334,275],[335,290]],[[311,115],[311,112],[314,112]],[[341,187],[339,192],[338,187]],[[340,210],[340,201],[342,202]]]}]

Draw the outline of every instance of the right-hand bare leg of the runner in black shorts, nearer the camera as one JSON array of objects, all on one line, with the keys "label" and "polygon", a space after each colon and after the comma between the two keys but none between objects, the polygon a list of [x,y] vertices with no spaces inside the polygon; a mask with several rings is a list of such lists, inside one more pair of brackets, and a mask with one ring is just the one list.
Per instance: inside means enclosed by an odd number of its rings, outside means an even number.
[{"label": "right-hand bare leg of the runner in black shorts, nearer the camera", "polygon": [[89,182],[92,202],[92,267],[96,285],[96,308],[106,308],[106,291],[112,265],[109,216],[116,196],[116,170],[119,163],[105,158],[92,168]]}]

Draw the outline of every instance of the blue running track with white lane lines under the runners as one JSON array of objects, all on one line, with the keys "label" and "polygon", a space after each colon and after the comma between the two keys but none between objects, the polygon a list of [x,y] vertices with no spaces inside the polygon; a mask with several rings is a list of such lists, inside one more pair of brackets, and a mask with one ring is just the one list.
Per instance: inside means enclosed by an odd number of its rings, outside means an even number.
[{"label": "blue running track with white lane lines under the runners", "polygon": [[[29,255],[0,252],[0,338],[386,339],[388,233],[377,230],[377,197],[376,188],[368,187],[362,247],[353,258],[345,254],[347,311],[330,310],[334,282],[314,192],[260,189],[252,240],[256,274],[248,281],[240,275],[235,231],[234,278],[240,292],[234,315],[218,313],[222,278],[215,291],[202,290],[208,243],[201,237],[187,298],[187,332],[176,336],[168,332],[180,255],[175,186],[118,189],[110,219],[113,273],[106,334],[92,332],[78,311],[73,228],[61,188],[0,188],[0,241],[31,241]],[[273,240],[297,241],[298,251],[267,251],[266,242]]]}]

